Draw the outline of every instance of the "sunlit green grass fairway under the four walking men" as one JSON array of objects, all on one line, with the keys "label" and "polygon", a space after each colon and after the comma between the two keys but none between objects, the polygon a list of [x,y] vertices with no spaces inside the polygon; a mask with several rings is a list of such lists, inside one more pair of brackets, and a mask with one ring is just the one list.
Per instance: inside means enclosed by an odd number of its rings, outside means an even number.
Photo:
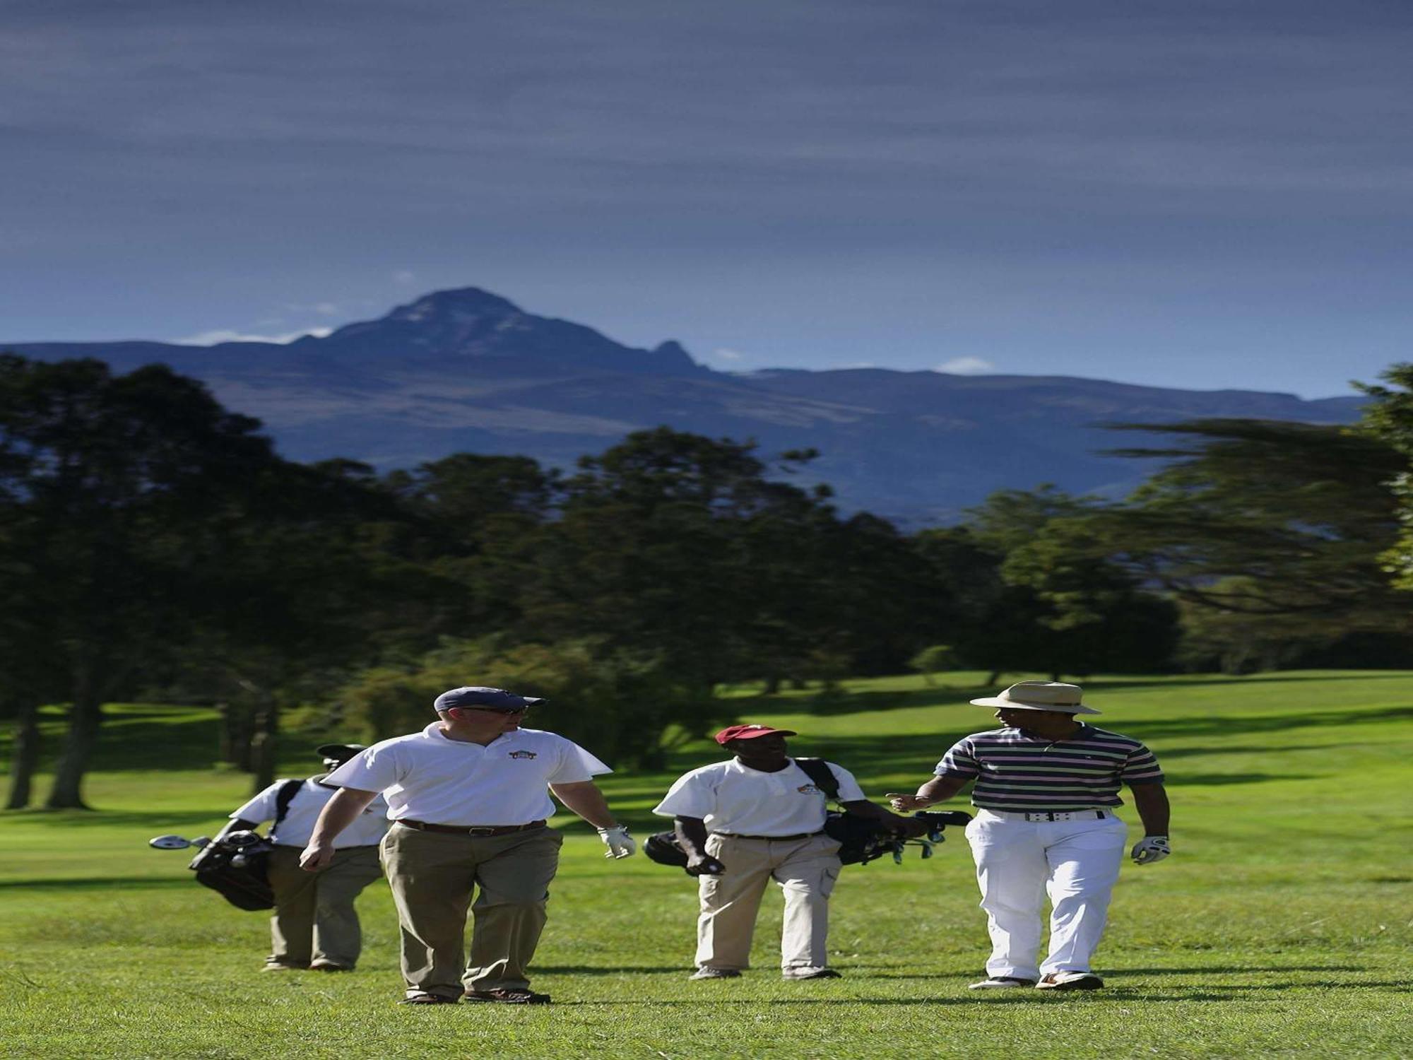
[{"label": "sunlit green grass fairway under the four walking men", "polygon": [[[855,681],[824,700],[742,691],[740,717],[797,728],[794,750],[838,760],[882,799],[991,728],[965,704],[981,677]],[[959,834],[927,862],[844,871],[831,927],[842,979],[780,981],[773,893],[756,967],[688,982],[694,885],[642,856],[605,861],[561,814],[569,840],[536,977],[555,1003],[455,1012],[394,1005],[384,885],[360,899],[356,972],[260,972],[266,916],[198,888],[182,852],[146,845],[213,831],[246,777],[157,772],[213,758],[209,712],[116,708],[88,787],[97,813],[0,814],[0,1056],[1413,1056],[1413,674],[1111,677],[1087,690],[1095,722],[1157,752],[1174,803],[1174,856],[1125,865],[1098,960],[1108,989],[966,991],[986,936]],[[661,827],[649,808],[670,780],[718,758],[702,743],[670,773],[605,787],[642,837]],[[285,772],[314,766],[291,758]]]}]

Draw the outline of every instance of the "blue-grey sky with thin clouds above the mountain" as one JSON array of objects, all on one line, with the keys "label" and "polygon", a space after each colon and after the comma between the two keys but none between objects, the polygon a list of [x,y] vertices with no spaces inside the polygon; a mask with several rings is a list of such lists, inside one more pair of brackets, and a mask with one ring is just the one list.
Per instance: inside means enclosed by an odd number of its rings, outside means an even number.
[{"label": "blue-grey sky with thin clouds above the mountain", "polygon": [[1406,0],[6,0],[0,343],[482,287],[702,363],[1349,393]]}]

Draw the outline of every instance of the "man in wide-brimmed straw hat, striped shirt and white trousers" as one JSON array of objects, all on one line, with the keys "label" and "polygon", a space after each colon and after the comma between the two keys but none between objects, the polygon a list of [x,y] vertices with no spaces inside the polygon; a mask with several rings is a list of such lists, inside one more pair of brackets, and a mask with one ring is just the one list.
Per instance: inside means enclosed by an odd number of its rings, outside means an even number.
[{"label": "man in wide-brimmed straw hat, striped shirt and white trousers", "polygon": [[[1123,862],[1126,827],[1113,814],[1121,783],[1143,821],[1135,864],[1170,854],[1157,759],[1136,739],[1078,721],[1078,714],[1098,714],[1081,700],[1080,685],[1056,681],[1022,681],[972,700],[995,707],[1003,728],[958,741],[917,794],[889,793],[894,810],[920,810],[976,782],[979,813],[966,840],[992,950],[986,978],[972,989],[1104,987],[1089,960]],[[1037,964],[1046,893],[1050,953]]]}]

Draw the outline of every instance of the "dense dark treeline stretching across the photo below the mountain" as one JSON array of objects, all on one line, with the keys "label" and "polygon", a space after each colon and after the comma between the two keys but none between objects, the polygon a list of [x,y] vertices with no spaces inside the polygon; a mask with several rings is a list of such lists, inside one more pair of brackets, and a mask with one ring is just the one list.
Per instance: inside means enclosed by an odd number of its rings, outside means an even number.
[{"label": "dense dark treeline stretching across the photo below the mountain", "polygon": [[722,684],[1409,666],[1410,376],[1369,389],[1364,428],[1149,427],[1186,445],[1132,497],[1002,492],[903,534],[791,485],[811,452],[663,427],[572,473],[379,475],[284,461],[161,366],[0,356],[8,806],[41,704],[69,715],[47,804],[79,807],[102,704],[136,697],[220,705],[222,756],[263,784],[281,728],[384,736],[468,681],[651,765],[735,714]]}]

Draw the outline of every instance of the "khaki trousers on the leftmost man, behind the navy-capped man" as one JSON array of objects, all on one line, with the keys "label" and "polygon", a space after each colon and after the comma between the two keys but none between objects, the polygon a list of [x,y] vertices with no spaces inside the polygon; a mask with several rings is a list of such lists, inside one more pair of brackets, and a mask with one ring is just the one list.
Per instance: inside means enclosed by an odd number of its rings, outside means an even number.
[{"label": "khaki trousers on the leftmost man, behind the navy-capped man", "polygon": [[276,847],[270,851],[267,875],[274,890],[274,916],[270,917],[274,951],[266,964],[352,968],[363,947],[353,899],[383,875],[377,847],[335,851],[333,862],[319,872],[300,868],[301,849]]}]

